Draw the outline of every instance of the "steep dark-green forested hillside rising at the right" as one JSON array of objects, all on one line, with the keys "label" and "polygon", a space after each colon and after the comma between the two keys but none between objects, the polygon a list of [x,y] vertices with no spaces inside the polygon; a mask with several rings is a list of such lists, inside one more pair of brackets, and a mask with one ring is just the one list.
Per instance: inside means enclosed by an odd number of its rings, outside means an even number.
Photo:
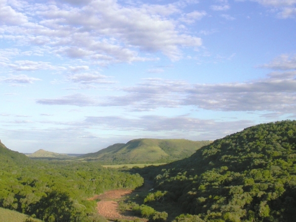
[{"label": "steep dark-green forested hillside rising at the right", "polygon": [[296,121],[247,128],[145,174],[155,182],[146,200],[161,190],[189,214],[176,222],[293,222]]}]

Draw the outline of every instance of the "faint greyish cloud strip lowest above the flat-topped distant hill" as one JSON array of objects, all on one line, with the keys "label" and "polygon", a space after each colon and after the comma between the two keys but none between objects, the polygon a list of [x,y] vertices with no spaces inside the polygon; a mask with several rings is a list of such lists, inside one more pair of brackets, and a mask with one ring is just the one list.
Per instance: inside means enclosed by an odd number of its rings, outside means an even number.
[{"label": "faint greyish cloud strip lowest above the flat-topped distant hill", "polygon": [[[253,124],[252,121],[215,121],[211,119],[198,119],[189,116],[160,116],[160,115],[144,115],[138,118],[125,118],[121,116],[88,116],[85,125],[100,126],[106,130],[114,128],[118,130],[143,130],[150,132],[179,132],[184,136],[189,132],[194,132],[195,138],[201,140],[213,140],[235,133]],[[229,130],[231,129],[231,130]],[[182,133],[181,133],[182,132]],[[197,134],[197,135],[196,135]],[[199,135],[198,135],[199,134]],[[181,136],[179,135],[179,137]],[[163,137],[163,136],[162,136]]]}]

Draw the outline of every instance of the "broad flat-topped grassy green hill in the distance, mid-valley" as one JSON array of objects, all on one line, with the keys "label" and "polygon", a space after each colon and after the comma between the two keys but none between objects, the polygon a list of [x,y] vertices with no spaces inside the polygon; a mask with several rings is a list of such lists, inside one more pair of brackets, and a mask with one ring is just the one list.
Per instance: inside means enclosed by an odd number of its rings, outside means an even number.
[{"label": "broad flat-topped grassy green hill in the distance, mid-valley", "polygon": [[190,156],[211,141],[184,139],[136,139],[127,144],[114,144],[95,153],[79,156],[79,159],[96,160],[108,164],[172,162]]}]

